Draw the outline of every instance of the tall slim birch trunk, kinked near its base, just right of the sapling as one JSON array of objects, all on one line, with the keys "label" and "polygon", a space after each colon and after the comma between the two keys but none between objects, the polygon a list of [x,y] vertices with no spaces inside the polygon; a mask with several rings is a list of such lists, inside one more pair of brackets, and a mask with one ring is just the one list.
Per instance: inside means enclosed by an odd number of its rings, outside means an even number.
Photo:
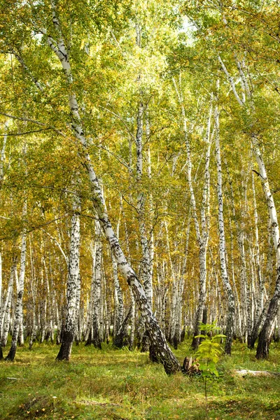
[{"label": "tall slim birch trunk, kinked near its base, just right of the sapling", "polygon": [[225,256],[225,224],[223,220],[223,176],[222,176],[222,164],[221,164],[221,151],[220,151],[220,124],[219,124],[219,112],[218,104],[215,106],[214,111],[215,118],[215,129],[216,129],[216,162],[217,162],[217,194],[218,194],[218,230],[219,230],[219,251],[220,251],[220,262],[221,262],[221,276],[223,279],[223,285],[228,295],[228,319],[225,330],[227,336],[225,341],[225,353],[231,354],[232,350],[232,339],[233,329],[235,323],[235,296],[232,293],[232,287],[230,286],[230,280],[228,278],[228,269],[226,265]]}]

